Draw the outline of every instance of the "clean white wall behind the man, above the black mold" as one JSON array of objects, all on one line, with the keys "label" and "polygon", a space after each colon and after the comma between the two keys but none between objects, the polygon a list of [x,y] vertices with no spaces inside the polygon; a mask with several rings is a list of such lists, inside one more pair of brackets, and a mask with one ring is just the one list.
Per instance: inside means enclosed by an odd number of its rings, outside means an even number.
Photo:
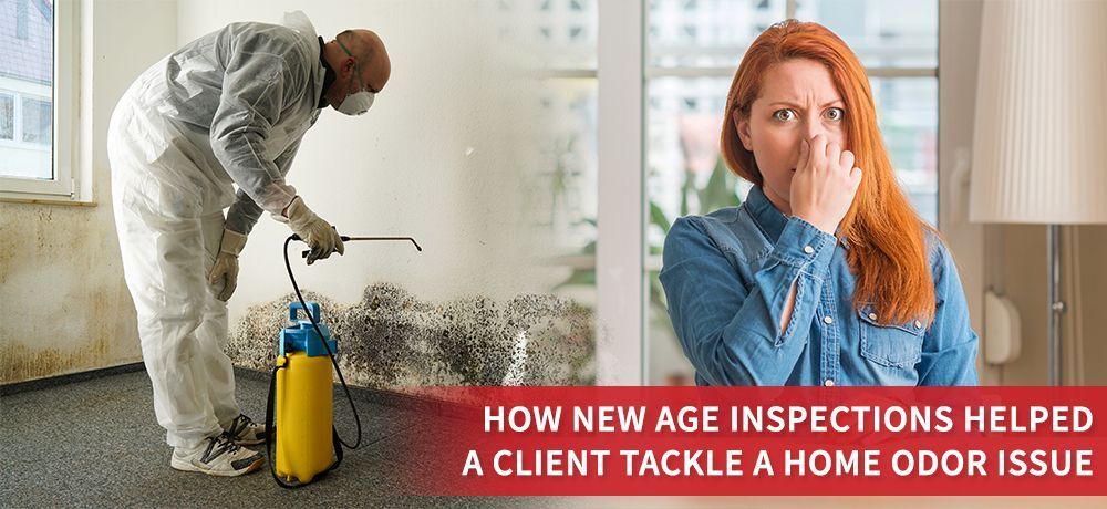
[{"label": "clean white wall behind the man, above the black mold", "polygon": [[[304,268],[301,285],[340,302],[371,283],[393,282],[424,300],[546,292],[562,272],[538,273],[525,183],[535,168],[528,139],[542,120],[537,87],[497,53],[497,33],[477,9],[447,1],[236,1],[178,4],[177,42],[232,21],[278,21],[301,9],[330,41],[348,28],[376,31],[392,77],[363,116],[327,110],[307,134],[288,181],[345,235],[410,235],[424,247],[351,243],[346,254]],[[291,288],[280,257],[289,235],[263,216],[242,253],[231,326],[250,304]],[[299,249],[297,246],[297,259]],[[555,277],[550,279],[550,277]],[[276,331],[275,331],[276,333]]]}]

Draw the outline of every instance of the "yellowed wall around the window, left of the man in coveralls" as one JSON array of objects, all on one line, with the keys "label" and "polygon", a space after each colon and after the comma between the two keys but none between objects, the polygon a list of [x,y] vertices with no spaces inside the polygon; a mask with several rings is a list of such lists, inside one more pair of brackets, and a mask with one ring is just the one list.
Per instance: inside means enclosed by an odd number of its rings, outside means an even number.
[{"label": "yellowed wall around the window, left of the man in coveralls", "polygon": [[0,383],[142,360],[112,215],[106,133],[131,80],[176,44],[176,2],[83,3],[81,164],[92,167],[96,205],[0,202],[0,302],[8,310]]}]

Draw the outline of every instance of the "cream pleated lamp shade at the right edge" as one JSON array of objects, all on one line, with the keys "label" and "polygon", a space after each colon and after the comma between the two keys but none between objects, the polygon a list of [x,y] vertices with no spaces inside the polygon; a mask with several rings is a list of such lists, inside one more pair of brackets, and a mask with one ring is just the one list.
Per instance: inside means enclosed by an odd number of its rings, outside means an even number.
[{"label": "cream pleated lamp shade at the right edge", "polygon": [[983,7],[970,220],[1107,224],[1107,0]]}]

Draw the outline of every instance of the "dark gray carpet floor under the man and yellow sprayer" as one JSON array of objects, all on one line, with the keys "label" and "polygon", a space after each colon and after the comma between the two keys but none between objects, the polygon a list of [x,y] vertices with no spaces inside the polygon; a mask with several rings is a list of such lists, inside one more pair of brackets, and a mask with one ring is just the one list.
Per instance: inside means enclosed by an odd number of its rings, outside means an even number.
[{"label": "dark gray carpet floor under the man and yellow sprayer", "polygon": [[[268,378],[239,373],[238,401],[265,418]],[[143,371],[0,397],[0,506],[4,507],[560,507],[557,498],[400,496],[418,465],[394,450],[412,440],[413,412],[355,395],[363,445],[314,485],[277,486],[266,469],[217,478],[169,468],[172,448],[154,418]],[[356,429],[335,394],[335,425]],[[255,448],[265,450],[265,446]],[[411,492],[411,491],[407,491]]]}]

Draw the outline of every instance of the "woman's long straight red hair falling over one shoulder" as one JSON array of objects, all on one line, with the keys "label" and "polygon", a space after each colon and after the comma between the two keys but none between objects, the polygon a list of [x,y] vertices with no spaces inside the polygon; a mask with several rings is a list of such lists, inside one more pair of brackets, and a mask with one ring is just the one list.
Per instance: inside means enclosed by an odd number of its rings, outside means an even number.
[{"label": "woman's long straight red hair falling over one shoulder", "polygon": [[855,308],[873,303],[882,323],[917,319],[929,323],[935,300],[924,231],[931,228],[911,208],[896,181],[877,128],[869,79],[857,55],[838,35],[818,23],[786,20],[757,37],[726,95],[721,142],[726,165],[742,178],[764,184],[754,154],[738,139],[734,113],[748,118],[749,106],[761,94],[761,76],[792,59],[826,65],[846,103],[846,148],[853,153],[855,164],[862,170],[857,196],[839,226],[849,243],[850,270],[857,278]]}]

